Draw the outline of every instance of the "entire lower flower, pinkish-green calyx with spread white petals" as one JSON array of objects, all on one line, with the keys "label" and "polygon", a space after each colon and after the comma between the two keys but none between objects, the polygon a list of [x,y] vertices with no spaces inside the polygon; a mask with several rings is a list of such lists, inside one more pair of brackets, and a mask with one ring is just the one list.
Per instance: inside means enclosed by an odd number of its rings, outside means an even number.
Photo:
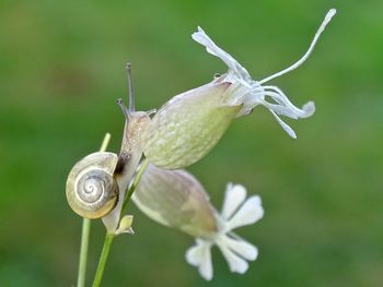
[{"label": "entire lower flower, pinkish-green calyx with spread white petals", "polygon": [[228,184],[222,212],[211,205],[204,187],[185,170],[164,170],[153,165],[141,177],[134,202],[148,217],[196,238],[186,252],[186,261],[198,267],[207,280],[212,278],[211,247],[218,246],[231,272],[245,273],[247,261],[257,258],[257,249],[232,232],[264,215],[260,198],[246,200],[240,184]]}]

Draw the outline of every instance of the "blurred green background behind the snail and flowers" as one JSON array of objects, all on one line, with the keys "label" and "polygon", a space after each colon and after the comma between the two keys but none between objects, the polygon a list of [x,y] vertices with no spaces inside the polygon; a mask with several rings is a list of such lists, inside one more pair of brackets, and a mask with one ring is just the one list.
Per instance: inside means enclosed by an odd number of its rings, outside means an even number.
[{"label": "blurred green background behind the snail and flowers", "polygon": [[[72,286],[81,218],[68,207],[71,166],[106,131],[119,150],[125,63],[148,110],[227,68],[194,43],[201,25],[254,79],[294,62],[329,8],[338,15],[299,70],[272,81],[316,113],[289,121],[265,108],[229,129],[189,168],[220,208],[228,181],[266,211],[239,234],[259,248],[245,275],[213,250],[214,278],[185,262],[193,239],[136,207],[136,235],[115,240],[104,286],[382,286],[382,1],[15,1],[0,3],[0,286]],[[92,225],[89,279],[104,237]]]}]

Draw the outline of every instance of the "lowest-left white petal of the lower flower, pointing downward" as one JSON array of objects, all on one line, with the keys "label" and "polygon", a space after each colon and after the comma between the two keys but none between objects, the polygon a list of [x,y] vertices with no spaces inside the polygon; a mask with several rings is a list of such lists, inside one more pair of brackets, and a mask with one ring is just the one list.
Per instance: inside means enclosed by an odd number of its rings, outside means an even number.
[{"label": "lowest-left white petal of the lower flower, pointing downward", "polygon": [[212,278],[212,263],[211,263],[211,243],[197,239],[196,246],[186,251],[186,261],[193,266],[198,267],[198,272],[206,280]]}]

